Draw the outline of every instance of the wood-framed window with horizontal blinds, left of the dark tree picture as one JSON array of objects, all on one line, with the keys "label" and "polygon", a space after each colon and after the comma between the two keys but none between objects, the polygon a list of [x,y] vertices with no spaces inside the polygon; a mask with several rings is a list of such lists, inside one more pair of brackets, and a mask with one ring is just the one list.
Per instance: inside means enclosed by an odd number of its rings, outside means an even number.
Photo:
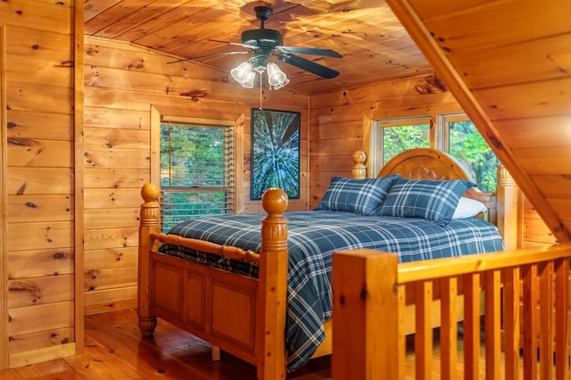
[{"label": "wood-framed window with horizontal blinds, left of the dark tree picture", "polygon": [[162,231],[183,220],[241,210],[237,120],[152,114],[151,178],[161,186]]}]

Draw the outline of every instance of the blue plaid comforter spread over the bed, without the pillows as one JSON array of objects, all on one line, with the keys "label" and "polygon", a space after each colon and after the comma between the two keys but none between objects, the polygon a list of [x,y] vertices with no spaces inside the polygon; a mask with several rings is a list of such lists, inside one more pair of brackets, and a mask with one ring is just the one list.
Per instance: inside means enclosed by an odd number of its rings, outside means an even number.
[{"label": "blue plaid comforter spread over the bed, without the pillows", "polygon": [[[260,251],[261,219],[265,214],[209,216],[180,223],[171,234]],[[416,218],[362,216],[335,211],[287,212],[288,285],[285,344],[287,366],[299,368],[325,337],[322,323],[331,318],[332,253],[370,248],[398,253],[400,262],[498,252],[498,229],[481,219],[453,219],[442,227]],[[258,268],[228,258],[188,252],[164,244],[161,252],[216,268],[257,277]]]}]

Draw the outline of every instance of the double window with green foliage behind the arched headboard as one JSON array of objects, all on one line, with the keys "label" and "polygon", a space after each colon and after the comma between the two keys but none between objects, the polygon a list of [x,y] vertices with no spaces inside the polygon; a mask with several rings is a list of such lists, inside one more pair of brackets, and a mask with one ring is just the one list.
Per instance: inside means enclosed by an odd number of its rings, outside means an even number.
[{"label": "double window with green foliage behind the arched headboard", "polygon": [[368,162],[371,172],[377,173],[402,151],[433,147],[462,162],[480,190],[495,191],[500,161],[468,116],[464,113],[437,115],[434,128],[432,126],[428,116],[374,121]]}]

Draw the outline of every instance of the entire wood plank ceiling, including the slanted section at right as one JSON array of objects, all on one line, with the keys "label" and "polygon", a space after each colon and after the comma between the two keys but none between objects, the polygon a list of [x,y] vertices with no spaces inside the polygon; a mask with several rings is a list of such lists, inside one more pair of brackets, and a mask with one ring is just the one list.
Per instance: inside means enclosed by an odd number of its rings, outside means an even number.
[{"label": "entire wood plank ceiling, including the slanted section at right", "polygon": [[[311,95],[435,70],[554,235],[571,241],[571,1],[86,0],[85,32],[174,58],[219,54],[244,49],[211,40],[240,42],[259,28],[260,4],[274,10],[266,28],[284,45],[343,54],[305,56],[340,71],[333,79],[278,62],[289,89]],[[196,62],[229,72],[245,57]]]}]

